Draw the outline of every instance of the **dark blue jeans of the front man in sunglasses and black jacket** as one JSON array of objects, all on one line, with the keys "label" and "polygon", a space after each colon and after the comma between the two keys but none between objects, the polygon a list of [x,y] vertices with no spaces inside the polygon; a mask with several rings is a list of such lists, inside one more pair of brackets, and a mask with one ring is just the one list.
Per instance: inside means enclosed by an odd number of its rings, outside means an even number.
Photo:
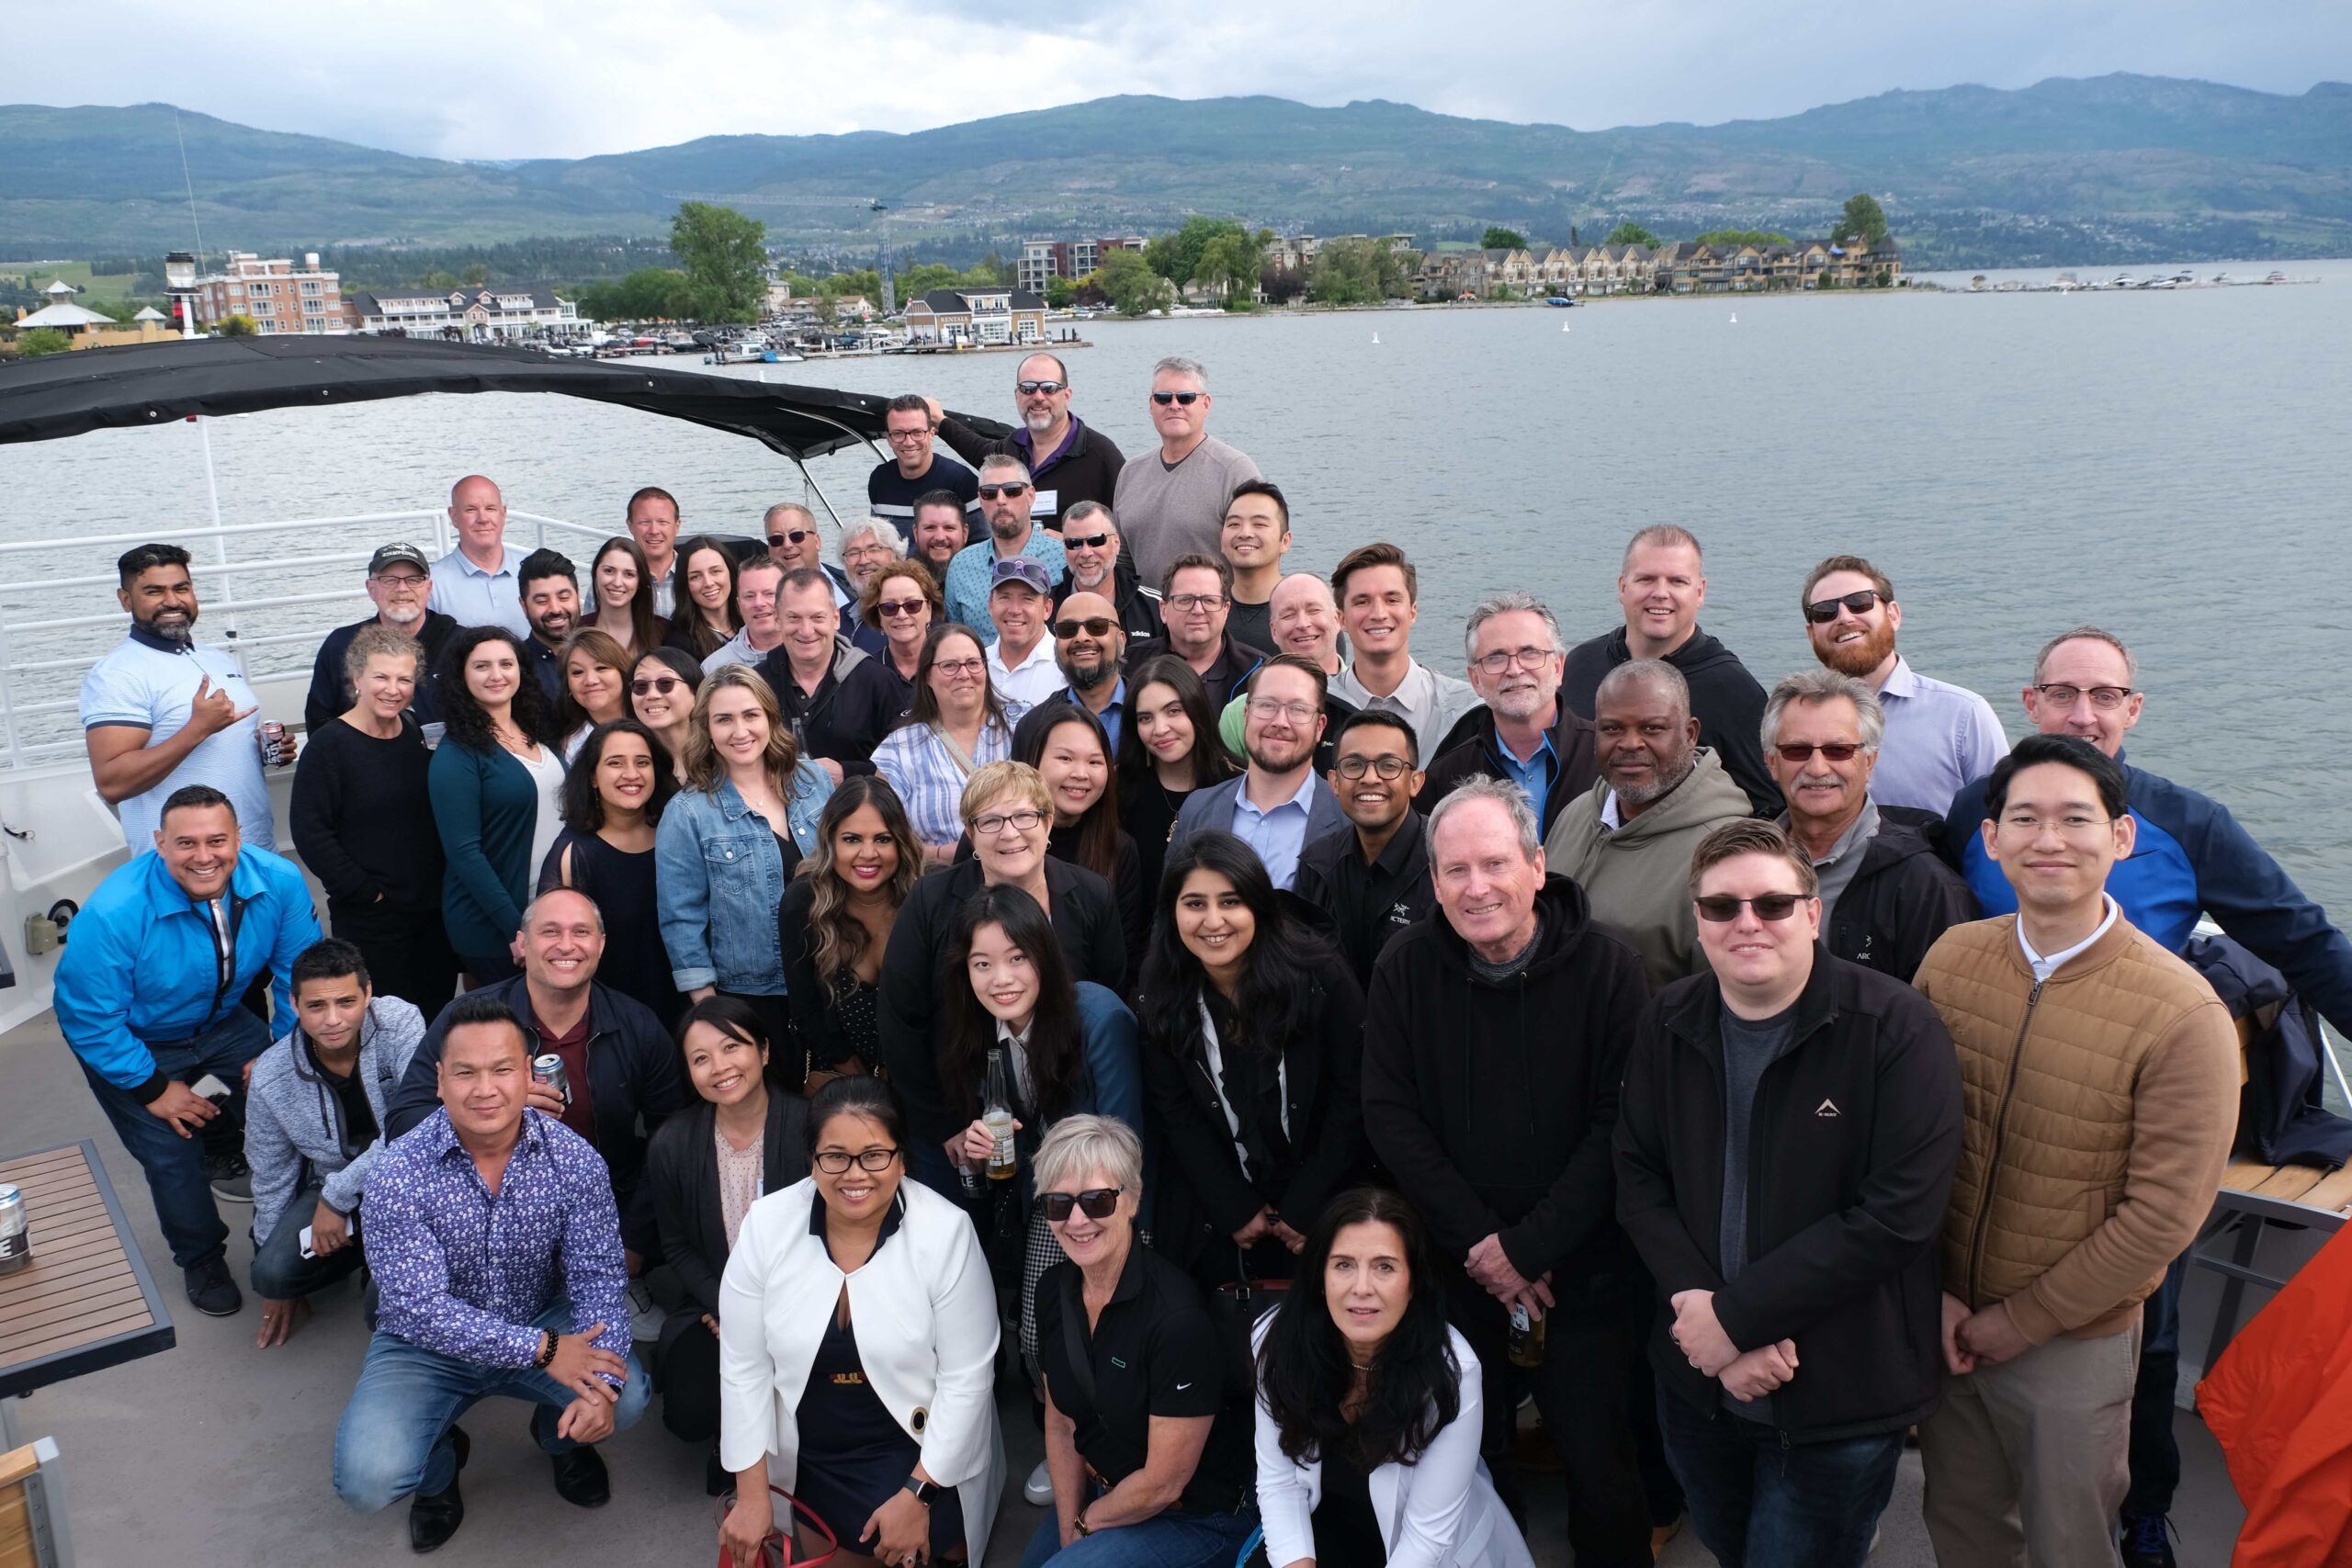
[{"label": "dark blue jeans of the front man in sunglasses and black jacket", "polygon": [[1783,1443],[1764,1422],[1658,1389],[1665,1460],[1722,1568],[1863,1568],[1896,1490],[1903,1432]]}]

